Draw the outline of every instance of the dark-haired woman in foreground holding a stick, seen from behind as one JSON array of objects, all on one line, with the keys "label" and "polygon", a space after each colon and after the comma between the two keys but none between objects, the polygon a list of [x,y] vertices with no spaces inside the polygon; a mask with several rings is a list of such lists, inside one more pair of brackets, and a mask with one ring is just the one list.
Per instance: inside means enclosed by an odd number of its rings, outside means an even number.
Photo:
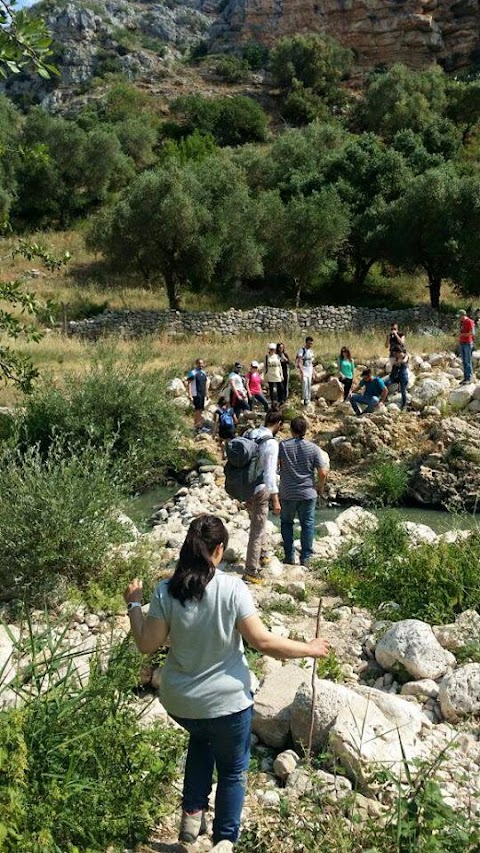
[{"label": "dark-haired woman in foreground holding a stick, seen from behind", "polygon": [[276,637],[256,614],[250,590],[218,568],[228,543],[220,518],[201,515],[190,524],[173,576],[160,581],[144,619],[142,582],[125,591],[138,649],[152,654],[170,638],[160,698],[190,734],[180,840],[206,832],[205,813],[217,770],[213,850],[233,850],[240,829],[250,760],[253,699],[242,638],[276,658],[323,657],[326,640],[309,643]]}]

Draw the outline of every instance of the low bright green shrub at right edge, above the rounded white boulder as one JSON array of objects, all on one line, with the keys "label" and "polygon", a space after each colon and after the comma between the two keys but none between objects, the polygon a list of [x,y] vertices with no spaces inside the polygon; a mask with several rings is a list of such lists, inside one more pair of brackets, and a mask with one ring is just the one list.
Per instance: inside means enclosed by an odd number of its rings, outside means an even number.
[{"label": "low bright green shrub at right edge, above the rounded white boulder", "polygon": [[379,520],[362,545],[345,551],[329,568],[332,587],[371,610],[395,602],[394,619],[452,622],[458,613],[480,607],[477,533],[462,542],[412,548],[395,513]]}]

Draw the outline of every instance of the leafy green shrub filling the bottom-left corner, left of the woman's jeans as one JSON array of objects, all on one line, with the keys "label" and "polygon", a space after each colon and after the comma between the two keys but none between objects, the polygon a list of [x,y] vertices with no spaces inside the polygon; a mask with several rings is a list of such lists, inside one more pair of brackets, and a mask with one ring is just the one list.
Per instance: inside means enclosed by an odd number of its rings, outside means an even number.
[{"label": "leafy green shrub filling the bottom-left corner, left of the woman's jeans", "polygon": [[26,646],[22,655],[33,661],[30,681],[16,686],[20,707],[0,711],[2,851],[134,847],[165,808],[183,735],[139,724],[136,658],[127,646],[114,650],[106,671],[92,662],[84,686],[51,629],[31,632]]}]

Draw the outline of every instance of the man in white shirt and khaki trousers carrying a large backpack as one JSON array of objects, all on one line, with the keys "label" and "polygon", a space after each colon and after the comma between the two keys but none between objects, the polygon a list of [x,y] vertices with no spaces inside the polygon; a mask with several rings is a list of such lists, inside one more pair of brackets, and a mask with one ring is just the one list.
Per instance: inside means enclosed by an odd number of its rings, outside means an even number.
[{"label": "man in white shirt and khaki trousers carrying a large backpack", "polygon": [[278,499],[278,444],[275,436],[283,426],[281,412],[267,412],[265,426],[247,430],[227,445],[225,489],[227,494],[244,501],[250,516],[245,574],[247,583],[262,583],[262,568],[268,564],[265,528],[270,500],[276,515]]}]

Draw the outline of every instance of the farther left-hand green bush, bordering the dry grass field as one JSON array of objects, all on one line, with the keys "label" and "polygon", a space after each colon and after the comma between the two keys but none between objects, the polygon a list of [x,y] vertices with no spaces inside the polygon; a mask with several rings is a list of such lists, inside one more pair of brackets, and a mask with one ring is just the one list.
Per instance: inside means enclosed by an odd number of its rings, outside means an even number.
[{"label": "farther left-hand green bush, bordering the dry grass field", "polygon": [[101,350],[82,377],[67,375],[65,387],[45,381],[26,401],[20,447],[38,445],[46,457],[55,439],[66,452],[88,444],[108,450],[116,474],[135,491],[162,479],[181,462],[181,420],[165,398],[164,380],[142,370],[139,350],[128,362]]}]

